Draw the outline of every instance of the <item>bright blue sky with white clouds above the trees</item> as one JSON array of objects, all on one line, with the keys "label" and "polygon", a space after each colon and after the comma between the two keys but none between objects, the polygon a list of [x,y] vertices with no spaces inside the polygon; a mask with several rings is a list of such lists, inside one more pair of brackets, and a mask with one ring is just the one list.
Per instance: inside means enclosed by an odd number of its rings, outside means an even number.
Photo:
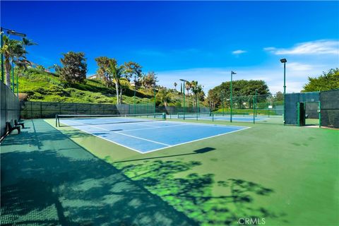
[{"label": "bright blue sky with white clouds above the trees", "polygon": [[1,27],[37,42],[28,59],[45,67],[84,52],[88,76],[106,56],[206,93],[230,71],[283,91],[282,58],[287,93],[339,67],[339,1],[1,1]]}]

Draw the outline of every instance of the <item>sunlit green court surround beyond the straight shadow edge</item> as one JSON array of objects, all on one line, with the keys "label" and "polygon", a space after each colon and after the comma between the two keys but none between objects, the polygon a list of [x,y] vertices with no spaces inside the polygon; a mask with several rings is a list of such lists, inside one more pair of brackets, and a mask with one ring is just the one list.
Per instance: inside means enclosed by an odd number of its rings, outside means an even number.
[{"label": "sunlit green court surround beyond the straight shadow edge", "polygon": [[147,154],[61,131],[200,225],[338,225],[338,130],[232,125],[251,129]]}]

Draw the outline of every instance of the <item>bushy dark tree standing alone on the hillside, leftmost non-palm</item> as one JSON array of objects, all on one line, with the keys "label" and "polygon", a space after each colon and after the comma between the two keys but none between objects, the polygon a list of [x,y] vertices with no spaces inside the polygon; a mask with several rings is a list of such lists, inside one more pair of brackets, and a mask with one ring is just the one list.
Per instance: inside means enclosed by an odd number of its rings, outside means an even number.
[{"label": "bushy dark tree standing alone on the hillside, leftmost non-palm", "polygon": [[64,58],[60,59],[63,66],[58,70],[61,81],[66,85],[83,83],[87,73],[85,54],[83,52],[68,52],[63,55]]}]

